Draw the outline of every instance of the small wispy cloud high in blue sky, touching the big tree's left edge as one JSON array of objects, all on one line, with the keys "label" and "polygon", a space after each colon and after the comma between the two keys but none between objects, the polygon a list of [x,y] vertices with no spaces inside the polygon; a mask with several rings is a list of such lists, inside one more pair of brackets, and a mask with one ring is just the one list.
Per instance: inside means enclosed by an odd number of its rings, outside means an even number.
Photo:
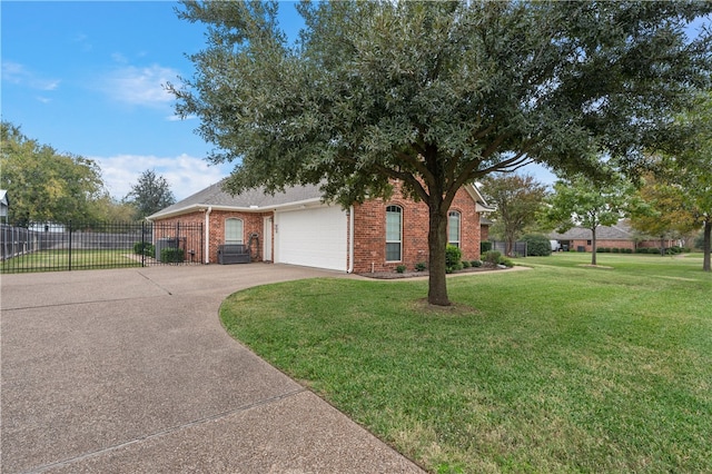
[{"label": "small wispy cloud high in blue sky, touching the big tree's left edge", "polygon": [[175,97],[164,85],[176,81],[176,69],[154,65],[146,68],[128,66],[116,69],[103,82],[103,90],[112,99],[132,106],[162,107]]}]

